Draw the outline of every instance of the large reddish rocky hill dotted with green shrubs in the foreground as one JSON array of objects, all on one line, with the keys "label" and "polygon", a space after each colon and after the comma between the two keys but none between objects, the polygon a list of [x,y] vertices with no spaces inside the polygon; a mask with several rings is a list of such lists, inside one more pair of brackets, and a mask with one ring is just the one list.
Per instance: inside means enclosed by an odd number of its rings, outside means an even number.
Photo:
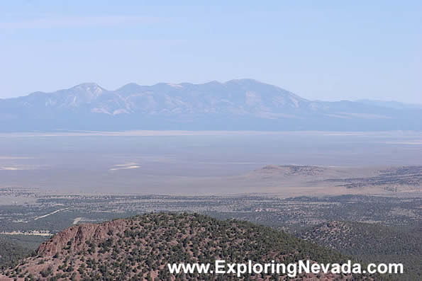
[{"label": "large reddish rocky hill dotted with green shrubs in the foreground", "polygon": [[[71,226],[43,243],[36,255],[3,271],[3,278],[35,280],[174,280],[167,263],[340,263],[345,259],[294,236],[248,222],[220,221],[198,214],[145,214],[102,224]],[[1,277],[1,275],[0,275]],[[179,276],[214,280],[216,275]],[[227,279],[228,276],[219,276]],[[252,276],[262,280],[265,276]],[[273,276],[274,277],[274,276]],[[344,280],[318,275],[313,280]],[[283,277],[280,277],[283,279]],[[7,280],[7,279],[6,279]]]}]

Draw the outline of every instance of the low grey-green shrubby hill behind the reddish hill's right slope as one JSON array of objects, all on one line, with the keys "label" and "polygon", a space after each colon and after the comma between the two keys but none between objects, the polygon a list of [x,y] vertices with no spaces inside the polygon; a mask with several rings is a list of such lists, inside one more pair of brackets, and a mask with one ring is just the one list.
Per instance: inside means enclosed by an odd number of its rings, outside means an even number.
[{"label": "low grey-green shrubby hill behind the reddish hill's right slope", "polygon": [[422,236],[418,229],[399,231],[379,224],[331,221],[304,231],[301,238],[368,263],[403,263],[403,280],[422,280]]}]

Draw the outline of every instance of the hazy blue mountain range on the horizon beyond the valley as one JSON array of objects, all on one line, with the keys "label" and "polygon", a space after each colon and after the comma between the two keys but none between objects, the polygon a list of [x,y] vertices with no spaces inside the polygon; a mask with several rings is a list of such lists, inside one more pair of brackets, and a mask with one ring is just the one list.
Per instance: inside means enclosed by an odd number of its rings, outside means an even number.
[{"label": "hazy blue mountain range on the horizon beyond the valley", "polygon": [[206,84],[86,83],[0,99],[0,132],[57,130],[422,130],[422,106],[309,101],[252,79]]}]

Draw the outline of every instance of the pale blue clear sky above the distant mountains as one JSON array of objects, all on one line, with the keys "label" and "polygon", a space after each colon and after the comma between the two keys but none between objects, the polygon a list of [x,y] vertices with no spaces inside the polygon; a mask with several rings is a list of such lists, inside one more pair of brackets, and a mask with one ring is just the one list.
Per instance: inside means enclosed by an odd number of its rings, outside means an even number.
[{"label": "pale blue clear sky above the distant mountains", "polygon": [[421,15],[420,0],[1,1],[0,98],[250,78],[311,100],[422,103]]}]

